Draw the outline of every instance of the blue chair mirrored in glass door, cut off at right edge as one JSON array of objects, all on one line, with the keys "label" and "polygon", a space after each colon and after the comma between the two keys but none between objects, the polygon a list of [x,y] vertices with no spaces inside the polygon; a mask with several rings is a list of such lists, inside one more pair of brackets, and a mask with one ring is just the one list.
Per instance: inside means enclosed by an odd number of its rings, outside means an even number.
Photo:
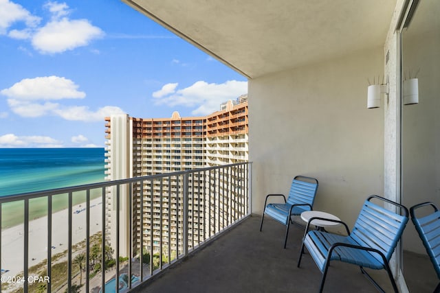
[{"label": "blue chair mirrored in glass door, cut off at right edge", "polygon": [[[421,207],[432,207],[432,213],[417,218],[415,210]],[[424,209],[426,210],[426,209]],[[434,266],[437,277],[440,279],[440,211],[432,202],[422,202],[410,208],[412,224],[419,233],[421,241],[426,248],[432,266]],[[440,292],[440,283],[434,292]]]}]

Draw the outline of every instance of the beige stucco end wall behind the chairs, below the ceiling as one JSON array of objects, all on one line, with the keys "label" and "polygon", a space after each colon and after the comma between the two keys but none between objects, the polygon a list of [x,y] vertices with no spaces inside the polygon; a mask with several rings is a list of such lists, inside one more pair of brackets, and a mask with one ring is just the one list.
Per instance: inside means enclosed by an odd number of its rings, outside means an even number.
[{"label": "beige stucco end wall behind the chairs, below the ceiling", "polygon": [[318,178],[315,209],[351,226],[362,202],[384,190],[384,110],[366,108],[383,74],[382,47],[249,81],[252,211],[292,178]]}]

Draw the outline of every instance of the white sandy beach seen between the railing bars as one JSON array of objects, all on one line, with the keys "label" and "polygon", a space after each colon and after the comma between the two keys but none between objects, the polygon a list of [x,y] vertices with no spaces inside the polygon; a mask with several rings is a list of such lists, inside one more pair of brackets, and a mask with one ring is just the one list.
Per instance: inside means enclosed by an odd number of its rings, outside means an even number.
[{"label": "white sandy beach seen between the railing bars", "polygon": [[[90,201],[90,235],[102,230],[102,199]],[[52,214],[52,256],[67,250],[68,210]],[[23,271],[24,225],[1,231],[2,276],[15,276]],[[85,203],[76,204],[72,215],[72,244],[85,240]],[[29,222],[29,267],[47,259],[47,216]],[[8,272],[4,272],[8,270]]]}]

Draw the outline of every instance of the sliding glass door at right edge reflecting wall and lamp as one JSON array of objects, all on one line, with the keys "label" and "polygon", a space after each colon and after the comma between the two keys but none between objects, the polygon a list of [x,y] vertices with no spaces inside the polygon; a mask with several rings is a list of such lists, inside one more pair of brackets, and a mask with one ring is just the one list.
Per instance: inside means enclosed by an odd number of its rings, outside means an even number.
[{"label": "sliding glass door at right edge reflecting wall and lamp", "polygon": [[[440,208],[440,1],[412,12],[401,30],[401,202]],[[408,289],[432,292],[439,281],[410,222],[402,246]]]}]

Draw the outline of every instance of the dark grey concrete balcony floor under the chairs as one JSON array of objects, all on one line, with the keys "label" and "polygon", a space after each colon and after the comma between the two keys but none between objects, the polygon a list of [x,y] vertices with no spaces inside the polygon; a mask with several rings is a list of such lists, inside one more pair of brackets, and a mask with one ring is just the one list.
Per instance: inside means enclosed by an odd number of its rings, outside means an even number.
[{"label": "dark grey concrete balcony floor under the chairs", "polygon": [[[297,268],[303,229],[291,226],[287,249],[285,227],[254,215],[199,252],[171,266],[163,274],[138,286],[133,292],[318,292],[321,272],[313,259],[303,255]],[[432,292],[438,283],[426,257],[404,259],[410,292]],[[369,270],[386,292],[393,292],[384,270]],[[331,263],[324,292],[378,292],[357,266]]]}]

